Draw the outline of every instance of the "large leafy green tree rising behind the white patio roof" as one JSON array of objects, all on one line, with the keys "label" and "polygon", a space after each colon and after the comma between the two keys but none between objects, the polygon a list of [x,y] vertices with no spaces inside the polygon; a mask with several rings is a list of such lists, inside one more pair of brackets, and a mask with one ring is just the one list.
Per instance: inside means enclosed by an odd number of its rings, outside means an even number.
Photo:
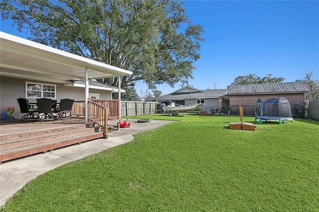
[{"label": "large leafy green tree rising behind the white patio roof", "polygon": [[[29,39],[133,72],[122,88],[143,80],[187,84],[200,58],[203,28],[192,24],[177,0],[6,0],[12,19]],[[118,86],[117,78],[99,82]]]}]

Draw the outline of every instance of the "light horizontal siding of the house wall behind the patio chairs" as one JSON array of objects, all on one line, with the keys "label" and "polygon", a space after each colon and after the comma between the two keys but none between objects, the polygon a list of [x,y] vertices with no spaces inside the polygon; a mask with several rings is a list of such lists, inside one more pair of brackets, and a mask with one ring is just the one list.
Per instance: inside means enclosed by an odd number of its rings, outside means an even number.
[{"label": "light horizontal siding of the house wall behind the patio chairs", "polygon": [[[15,107],[13,116],[16,119],[22,117],[20,107],[16,101],[19,98],[25,98],[25,82],[47,83],[36,80],[24,80],[11,77],[0,77],[0,113],[6,111],[9,106]],[[52,83],[49,83],[52,84]],[[73,99],[75,101],[84,101],[84,88],[56,85],[56,100]],[[111,91],[89,89],[90,93],[100,94],[100,99],[112,99]],[[36,103],[35,99],[28,99],[30,103]]]}]

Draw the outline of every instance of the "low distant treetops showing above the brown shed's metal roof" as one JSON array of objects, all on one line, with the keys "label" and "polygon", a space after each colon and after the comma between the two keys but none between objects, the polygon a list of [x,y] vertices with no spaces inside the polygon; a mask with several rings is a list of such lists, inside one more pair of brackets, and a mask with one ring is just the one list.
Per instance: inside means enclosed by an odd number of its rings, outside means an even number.
[{"label": "low distant treetops showing above the brown shed's metal roof", "polygon": [[238,76],[231,85],[249,85],[263,83],[281,83],[285,80],[282,77],[273,77],[272,74],[267,74],[265,77],[258,77],[256,74],[248,74],[246,76]]}]

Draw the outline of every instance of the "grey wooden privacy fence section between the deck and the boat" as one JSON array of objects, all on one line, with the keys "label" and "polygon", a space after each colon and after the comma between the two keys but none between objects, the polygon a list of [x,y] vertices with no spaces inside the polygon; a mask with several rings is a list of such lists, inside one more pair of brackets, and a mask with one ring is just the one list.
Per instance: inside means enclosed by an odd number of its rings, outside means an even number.
[{"label": "grey wooden privacy fence section between the deck and the boat", "polygon": [[156,111],[156,102],[121,101],[121,115],[152,114]]}]

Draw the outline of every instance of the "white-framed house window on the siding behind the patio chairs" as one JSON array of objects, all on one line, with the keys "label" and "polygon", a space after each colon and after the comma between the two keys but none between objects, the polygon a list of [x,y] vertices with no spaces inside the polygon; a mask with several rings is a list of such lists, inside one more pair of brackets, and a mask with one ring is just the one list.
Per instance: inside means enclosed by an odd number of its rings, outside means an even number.
[{"label": "white-framed house window on the siding behind the patio chairs", "polygon": [[25,82],[25,98],[56,99],[56,85]]}]

